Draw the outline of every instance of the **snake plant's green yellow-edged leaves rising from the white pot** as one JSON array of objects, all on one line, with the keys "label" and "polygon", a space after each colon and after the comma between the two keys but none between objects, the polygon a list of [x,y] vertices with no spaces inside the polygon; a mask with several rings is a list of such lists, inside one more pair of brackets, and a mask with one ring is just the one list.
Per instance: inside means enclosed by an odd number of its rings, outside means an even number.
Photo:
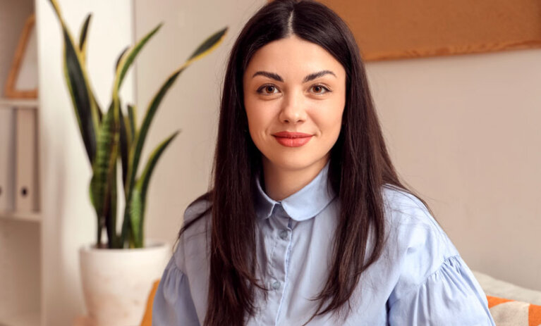
[{"label": "snake plant's green yellow-edged leaves rising from the white pot", "polygon": [[[227,27],[208,37],[180,68],[176,69],[158,89],[145,112],[142,125],[137,123],[136,106],[126,105],[127,114],[123,113],[123,104],[118,94],[128,69],[143,46],[158,32],[162,24],[142,37],[134,46],[120,54],[116,62],[114,84],[111,92],[111,103],[107,112],[102,113],[90,80],[86,62],[87,32],[92,15],[87,15],[80,30],[78,43],[72,37],[65,20],[61,15],[56,0],[50,0],[62,27],[63,35],[63,73],[71,95],[75,117],[83,138],[86,153],[92,167],[90,180],[90,201],[97,215],[97,247],[109,249],[142,248],[143,225],[145,221],[145,202],[147,190],[157,161],[180,130],[167,137],[150,154],[145,168],[137,176],[142,148],[157,112],[159,104],[166,92],[174,84],[178,75],[190,63],[209,54],[224,39]],[[116,181],[117,163],[122,169],[123,195],[126,202],[120,234],[116,230],[116,208],[118,184]],[[102,241],[102,231],[107,230],[107,243]]]}]

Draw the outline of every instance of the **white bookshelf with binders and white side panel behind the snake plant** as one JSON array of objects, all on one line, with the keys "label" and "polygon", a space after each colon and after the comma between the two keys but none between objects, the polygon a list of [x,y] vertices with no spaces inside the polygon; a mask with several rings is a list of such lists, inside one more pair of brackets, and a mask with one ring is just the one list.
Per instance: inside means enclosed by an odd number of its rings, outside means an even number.
[{"label": "white bookshelf with binders and white side panel behind the snake plant", "polygon": [[[111,67],[122,49],[133,44],[133,0],[58,3],[74,33],[87,13],[94,14],[89,71],[97,99],[109,99]],[[4,89],[32,13],[39,98],[11,99]],[[2,175],[11,182],[0,192],[11,194],[7,205],[0,203],[1,326],[71,325],[85,314],[78,249],[95,239],[87,189],[92,170],[63,79],[62,49],[49,0],[0,1],[0,184]],[[134,77],[126,76],[126,101],[135,98]],[[33,180],[27,196],[20,187],[24,177]]]}]

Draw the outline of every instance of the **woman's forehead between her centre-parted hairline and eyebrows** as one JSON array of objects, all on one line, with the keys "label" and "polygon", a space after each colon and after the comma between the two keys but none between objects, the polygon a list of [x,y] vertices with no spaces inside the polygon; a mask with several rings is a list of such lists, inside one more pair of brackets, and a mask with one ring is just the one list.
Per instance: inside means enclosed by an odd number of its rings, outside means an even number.
[{"label": "woman's forehead between her centre-parted hairline and eyebrows", "polygon": [[298,77],[318,70],[332,70],[336,76],[345,75],[344,67],[322,46],[291,35],[265,44],[258,49],[248,63],[245,77],[265,70],[279,75]]}]

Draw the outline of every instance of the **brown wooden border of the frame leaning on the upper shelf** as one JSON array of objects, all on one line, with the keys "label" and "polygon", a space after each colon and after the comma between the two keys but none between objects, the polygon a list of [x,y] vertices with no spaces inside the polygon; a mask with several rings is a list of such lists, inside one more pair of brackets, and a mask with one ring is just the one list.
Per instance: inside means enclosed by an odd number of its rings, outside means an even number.
[{"label": "brown wooden border of the frame leaning on the upper shelf", "polygon": [[13,57],[13,63],[11,64],[11,70],[9,71],[8,80],[6,81],[6,87],[4,94],[11,99],[37,99],[37,89],[32,90],[18,90],[16,89],[16,82],[20,71],[20,64],[25,56],[28,40],[30,39],[30,32],[35,25],[35,14],[30,15],[25,22],[25,27],[20,35],[15,56]]}]

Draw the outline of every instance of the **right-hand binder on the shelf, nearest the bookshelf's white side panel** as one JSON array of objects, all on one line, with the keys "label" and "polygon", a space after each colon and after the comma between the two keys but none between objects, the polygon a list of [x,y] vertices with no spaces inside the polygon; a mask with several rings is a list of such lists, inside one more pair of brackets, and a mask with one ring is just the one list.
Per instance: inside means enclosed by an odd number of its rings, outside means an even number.
[{"label": "right-hand binder on the shelf, nearest the bookshelf's white side panel", "polygon": [[15,211],[29,213],[37,209],[36,111],[16,110]]}]

